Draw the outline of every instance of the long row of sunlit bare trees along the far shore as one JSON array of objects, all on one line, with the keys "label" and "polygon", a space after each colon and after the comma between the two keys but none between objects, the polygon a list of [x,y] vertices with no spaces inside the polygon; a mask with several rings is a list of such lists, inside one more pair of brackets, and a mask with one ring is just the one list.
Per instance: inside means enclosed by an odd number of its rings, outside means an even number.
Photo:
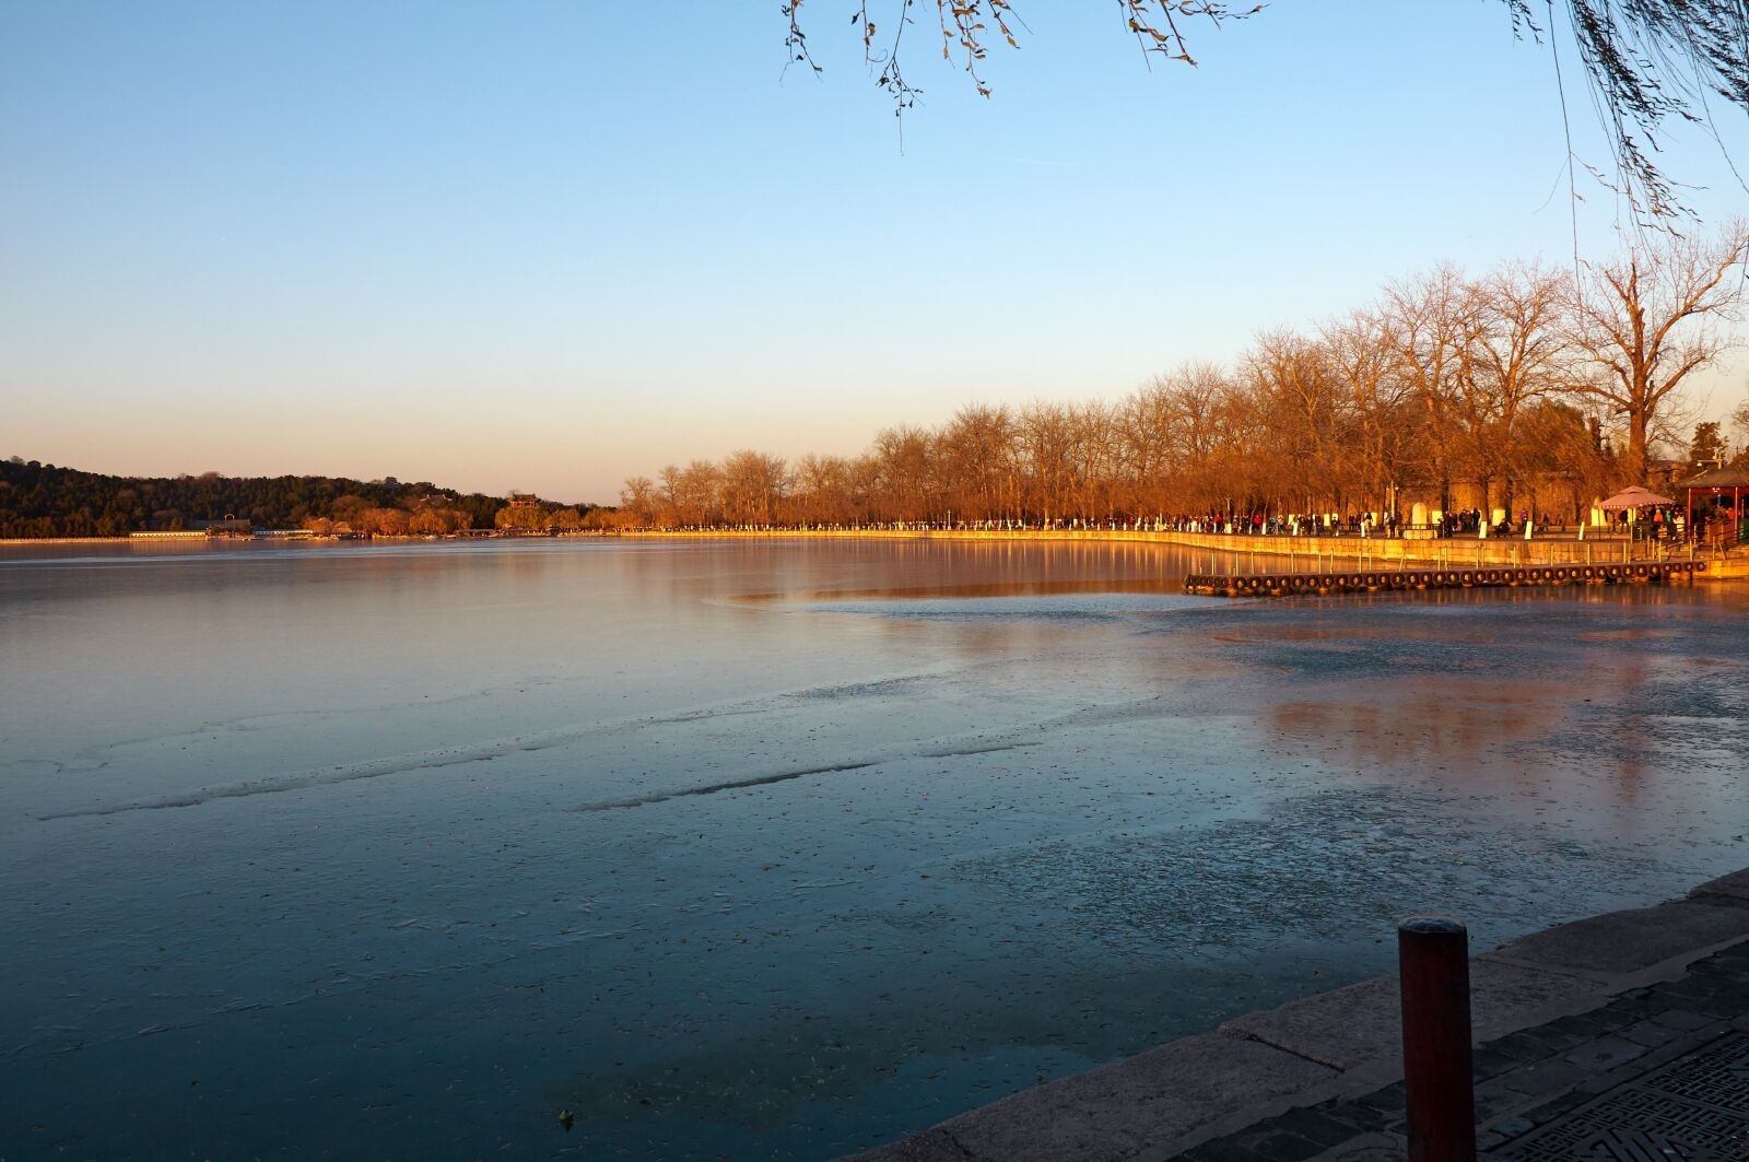
[{"label": "long row of sunlit bare trees along the far shore", "polygon": [[[1258,336],[1116,402],[962,408],[859,457],[736,452],[628,480],[658,527],[1401,513],[1408,497],[1569,518],[1642,481],[1730,345],[1749,233],[1662,238],[1574,278],[1441,266],[1315,331]],[[1565,511],[1562,511],[1565,509]]]}]

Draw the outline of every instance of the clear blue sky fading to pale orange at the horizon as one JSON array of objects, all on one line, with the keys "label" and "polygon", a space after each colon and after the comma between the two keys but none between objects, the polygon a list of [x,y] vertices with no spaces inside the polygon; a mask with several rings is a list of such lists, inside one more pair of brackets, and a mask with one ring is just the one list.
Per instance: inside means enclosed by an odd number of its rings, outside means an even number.
[{"label": "clear blue sky fading to pale orange at the horizon", "polygon": [[[1501,0],[1280,0],[1195,70],[1035,0],[988,102],[925,23],[902,150],[850,5],[805,7],[819,80],[777,7],[5,0],[0,455],[612,500],[1118,397],[1441,259],[1571,262],[1550,49]],[[1667,163],[1709,220],[1749,206],[1698,135]]]}]

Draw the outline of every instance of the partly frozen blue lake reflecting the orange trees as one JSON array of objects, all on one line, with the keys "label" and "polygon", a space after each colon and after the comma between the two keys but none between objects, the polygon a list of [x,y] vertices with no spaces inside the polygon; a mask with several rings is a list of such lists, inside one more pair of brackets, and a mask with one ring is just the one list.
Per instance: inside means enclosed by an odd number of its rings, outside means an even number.
[{"label": "partly frozen blue lake reflecting the orange trees", "polygon": [[1749,864],[1739,590],[1193,564],[0,550],[0,1158],[824,1158]]}]

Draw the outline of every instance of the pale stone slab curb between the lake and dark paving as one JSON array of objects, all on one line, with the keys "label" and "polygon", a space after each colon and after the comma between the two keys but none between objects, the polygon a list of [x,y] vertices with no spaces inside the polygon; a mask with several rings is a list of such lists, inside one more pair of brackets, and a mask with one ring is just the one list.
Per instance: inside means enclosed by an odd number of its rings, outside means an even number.
[{"label": "pale stone slab curb between the lake and dark paving", "polygon": [[[1677,980],[1695,961],[1746,940],[1749,868],[1684,900],[1522,936],[1471,959],[1474,1040]],[[1165,1162],[1256,1122],[1401,1078],[1397,980],[1376,976],[1021,1090],[841,1162]]]}]

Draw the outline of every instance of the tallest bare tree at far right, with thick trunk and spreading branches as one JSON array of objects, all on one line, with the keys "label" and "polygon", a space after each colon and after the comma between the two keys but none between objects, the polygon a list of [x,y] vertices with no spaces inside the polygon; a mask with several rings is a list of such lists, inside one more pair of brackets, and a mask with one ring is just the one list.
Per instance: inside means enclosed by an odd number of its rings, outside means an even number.
[{"label": "tallest bare tree at far right, with thick trunk and spreading branches", "polygon": [[1749,228],[1732,224],[1714,242],[1658,238],[1609,262],[1586,262],[1572,299],[1569,338],[1597,371],[1576,390],[1621,416],[1623,469],[1646,474],[1653,439],[1665,436],[1674,394],[1718,360],[1732,338],[1718,326],[1737,318]]}]

